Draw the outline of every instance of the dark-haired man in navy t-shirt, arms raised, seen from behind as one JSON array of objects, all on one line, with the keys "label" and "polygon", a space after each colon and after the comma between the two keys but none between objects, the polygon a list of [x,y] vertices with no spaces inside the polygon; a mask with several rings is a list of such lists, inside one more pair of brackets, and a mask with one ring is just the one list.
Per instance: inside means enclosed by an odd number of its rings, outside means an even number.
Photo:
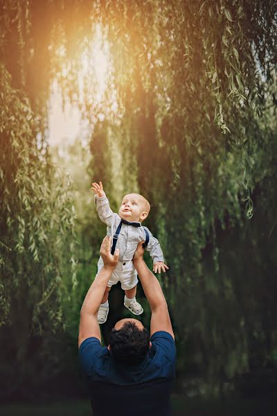
[{"label": "dark-haired man in navy t-shirt, arms raised, seen from behind", "polygon": [[104,266],[91,284],[80,313],[79,356],[91,392],[93,416],[170,415],[170,386],[176,349],[166,299],[157,278],[143,261],[143,247],[134,254],[143,291],[151,309],[150,338],[136,319],[118,321],[108,347],[101,347],[98,309],[107,282],[118,263],[111,237],[100,248]]}]

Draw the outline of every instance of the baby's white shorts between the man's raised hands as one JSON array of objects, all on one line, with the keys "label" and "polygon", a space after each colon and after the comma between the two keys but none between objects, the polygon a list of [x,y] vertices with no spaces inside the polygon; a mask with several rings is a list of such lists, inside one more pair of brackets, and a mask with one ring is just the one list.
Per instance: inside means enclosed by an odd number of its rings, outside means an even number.
[{"label": "baby's white shorts between the man's raised hands", "polygon": [[[98,260],[98,273],[104,266],[102,261],[102,257]],[[98,274],[97,273],[97,274]],[[111,288],[114,284],[117,284],[118,281],[121,283],[121,288],[123,291],[128,291],[129,289],[134,288],[139,283],[138,274],[136,269],[134,268],[134,264],[132,261],[118,261],[118,264],[114,268],[114,271],[111,275],[111,279],[109,279],[107,286]]]}]

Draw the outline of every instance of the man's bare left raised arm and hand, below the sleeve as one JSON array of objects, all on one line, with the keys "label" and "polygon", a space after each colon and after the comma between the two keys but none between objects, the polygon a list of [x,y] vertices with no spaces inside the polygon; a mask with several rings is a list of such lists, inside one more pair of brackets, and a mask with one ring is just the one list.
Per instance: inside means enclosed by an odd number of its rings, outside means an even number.
[{"label": "man's bare left raised arm and hand, below the sleeve", "polygon": [[111,237],[105,236],[100,248],[100,255],[104,262],[104,266],[91,284],[91,287],[84,298],[80,312],[79,347],[84,340],[92,336],[101,340],[97,319],[98,309],[109,278],[111,277],[111,273],[118,263],[119,255],[119,250],[116,250],[114,255],[111,254]]}]

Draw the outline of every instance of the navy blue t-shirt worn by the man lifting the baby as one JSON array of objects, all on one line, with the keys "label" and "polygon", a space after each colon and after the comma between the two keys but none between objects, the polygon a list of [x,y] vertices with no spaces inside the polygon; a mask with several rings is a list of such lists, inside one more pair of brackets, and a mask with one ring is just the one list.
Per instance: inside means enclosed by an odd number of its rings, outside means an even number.
[{"label": "navy blue t-shirt worn by the man lifting the baby", "polygon": [[97,338],[82,342],[79,358],[89,384],[93,416],[170,415],[175,342],[165,331],[155,332],[151,342],[145,360],[132,367],[116,363]]}]

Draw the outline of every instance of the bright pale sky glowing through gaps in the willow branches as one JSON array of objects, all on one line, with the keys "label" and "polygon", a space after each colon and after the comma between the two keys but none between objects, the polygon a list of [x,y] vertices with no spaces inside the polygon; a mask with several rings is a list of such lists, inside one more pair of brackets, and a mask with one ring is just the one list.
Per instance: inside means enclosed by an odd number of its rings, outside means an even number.
[{"label": "bright pale sky glowing through gaps in the willow branches", "polygon": [[[60,52],[60,49],[63,53]],[[59,49],[60,58],[64,59],[64,49]],[[78,104],[82,105],[84,99],[93,106],[105,100],[105,92],[108,85],[108,77],[111,77],[112,64],[109,53],[109,43],[104,40],[100,25],[96,26],[93,39],[84,39],[84,49],[80,55],[81,68],[78,74]],[[66,65],[62,69],[62,76],[68,75]],[[111,96],[115,96],[115,90]],[[111,105],[111,110],[116,113],[118,103],[116,100]],[[95,119],[103,121],[105,114],[93,114]],[[48,142],[50,146],[68,146],[76,137],[84,139],[88,134],[88,126],[82,121],[81,112],[77,104],[66,102],[63,107],[62,92],[57,80],[51,86],[51,96],[48,102]]]}]

